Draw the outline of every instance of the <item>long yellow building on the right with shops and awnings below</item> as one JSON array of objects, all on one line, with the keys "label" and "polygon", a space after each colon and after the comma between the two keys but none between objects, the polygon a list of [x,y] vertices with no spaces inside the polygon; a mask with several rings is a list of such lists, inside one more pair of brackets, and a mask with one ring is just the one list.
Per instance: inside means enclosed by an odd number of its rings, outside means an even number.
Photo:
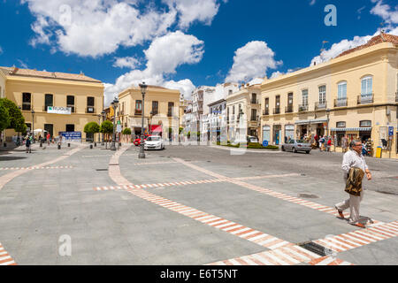
[{"label": "long yellow building on the right with shops and awnings below", "polygon": [[398,36],[379,34],[328,62],[265,78],[262,140],[281,144],[329,134],[332,149],[341,151],[346,135],[349,141],[371,139],[373,156],[382,147],[383,157],[396,158],[397,91]]}]

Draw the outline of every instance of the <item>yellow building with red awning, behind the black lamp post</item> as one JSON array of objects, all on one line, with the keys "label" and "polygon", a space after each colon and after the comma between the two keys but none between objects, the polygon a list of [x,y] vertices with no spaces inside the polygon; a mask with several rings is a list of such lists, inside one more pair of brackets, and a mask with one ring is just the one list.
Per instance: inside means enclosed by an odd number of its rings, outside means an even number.
[{"label": "yellow building with red awning, behind the black lamp post", "polygon": [[[141,88],[127,88],[119,93],[117,117],[122,128],[142,134]],[[161,134],[164,139],[178,138],[180,126],[180,91],[148,86],[145,94],[144,134]],[[172,128],[172,134],[169,134]]]}]

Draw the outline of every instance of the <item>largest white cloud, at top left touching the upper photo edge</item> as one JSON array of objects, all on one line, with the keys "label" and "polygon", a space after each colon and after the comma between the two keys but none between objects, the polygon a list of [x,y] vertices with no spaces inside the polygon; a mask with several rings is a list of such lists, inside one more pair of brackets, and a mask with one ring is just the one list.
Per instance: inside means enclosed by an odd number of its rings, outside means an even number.
[{"label": "largest white cloud, at top left touching the upper photo edge", "polygon": [[21,0],[36,17],[32,29],[38,43],[82,57],[111,54],[119,46],[132,47],[166,34],[177,11],[140,11],[135,1]]}]

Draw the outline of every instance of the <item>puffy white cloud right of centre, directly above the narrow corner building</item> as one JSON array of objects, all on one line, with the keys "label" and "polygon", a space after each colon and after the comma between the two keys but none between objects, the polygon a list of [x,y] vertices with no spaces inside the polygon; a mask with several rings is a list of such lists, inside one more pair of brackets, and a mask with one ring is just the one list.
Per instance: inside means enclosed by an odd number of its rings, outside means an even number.
[{"label": "puffy white cloud right of centre, directly above the narrow corner building", "polygon": [[249,42],[235,51],[233,66],[226,81],[247,81],[264,77],[268,69],[275,69],[282,61],[275,60],[275,53],[266,42]]}]

